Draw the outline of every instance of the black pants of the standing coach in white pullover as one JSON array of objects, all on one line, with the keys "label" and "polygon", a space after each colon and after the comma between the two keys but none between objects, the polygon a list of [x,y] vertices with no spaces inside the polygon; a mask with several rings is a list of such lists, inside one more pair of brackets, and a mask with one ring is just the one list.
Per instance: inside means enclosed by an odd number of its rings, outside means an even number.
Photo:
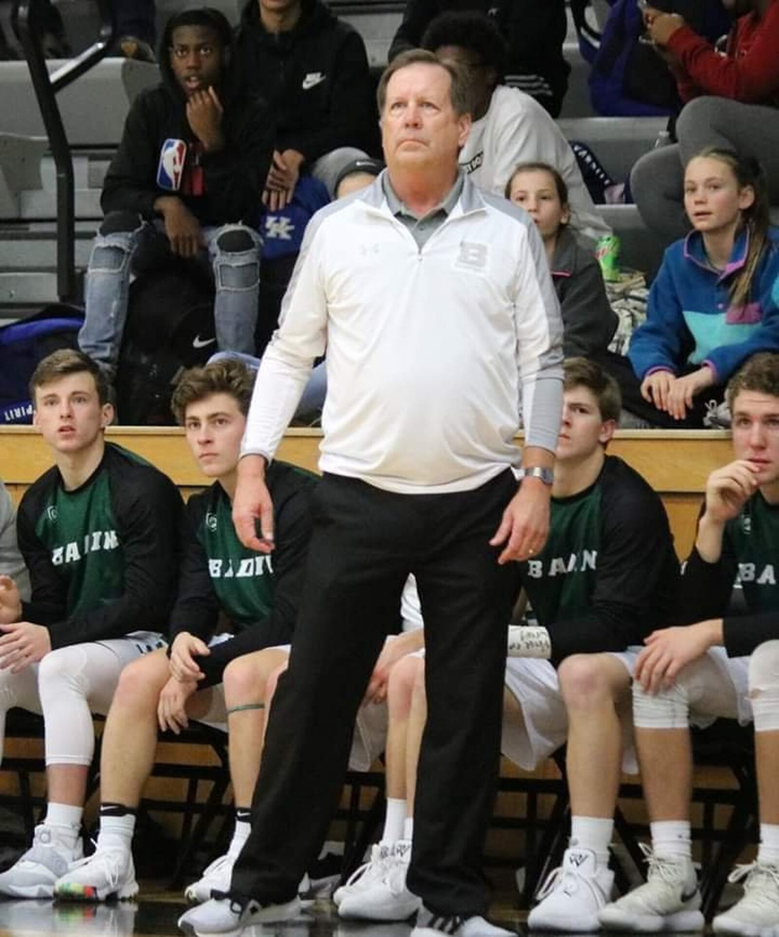
[{"label": "black pants of the standing coach in white pullover", "polygon": [[337,806],[357,708],[409,573],[425,618],[427,726],[408,885],[440,914],[483,914],[482,853],[500,759],[517,566],[489,539],[517,490],[397,495],[325,476],[287,672],[268,721],[232,897],[291,900]]}]

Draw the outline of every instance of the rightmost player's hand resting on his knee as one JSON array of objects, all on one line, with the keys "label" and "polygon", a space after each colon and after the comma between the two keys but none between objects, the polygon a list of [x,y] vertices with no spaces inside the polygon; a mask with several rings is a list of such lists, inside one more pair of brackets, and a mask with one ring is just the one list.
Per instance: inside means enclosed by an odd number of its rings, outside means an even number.
[{"label": "rightmost player's hand resting on his knee", "polygon": [[638,655],[635,678],[644,692],[667,690],[682,667],[702,657],[721,638],[721,618],[652,632],[644,639],[646,647]]}]

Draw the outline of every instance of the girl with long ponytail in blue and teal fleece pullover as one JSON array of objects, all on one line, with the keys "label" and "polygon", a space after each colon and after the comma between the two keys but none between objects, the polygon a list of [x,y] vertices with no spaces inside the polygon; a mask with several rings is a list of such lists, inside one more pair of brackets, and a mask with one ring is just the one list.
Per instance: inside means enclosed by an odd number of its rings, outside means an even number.
[{"label": "girl with long ponytail in blue and teal fleece pullover", "polygon": [[779,229],[762,169],[727,150],[690,160],[684,206],[694,230],[666,251],[628,349],[635,375],[621,382],[625,409],[699,427],[704,399],[721,401],[757,351],[779,350]]}]

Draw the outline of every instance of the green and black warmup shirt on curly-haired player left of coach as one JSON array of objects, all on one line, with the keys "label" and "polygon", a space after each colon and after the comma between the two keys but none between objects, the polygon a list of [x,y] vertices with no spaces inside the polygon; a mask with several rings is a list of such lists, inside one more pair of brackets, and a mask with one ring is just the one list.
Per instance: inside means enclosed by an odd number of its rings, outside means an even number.
[{"label": "green and black warmup shirt on curly-haired player left of coach", "polygon": [[218,482],[187,501],[171,637],[190,632],[207,641],[220,612],[237,632],[199,659],[205,674],[201,687],[218,683],[233,658],[292,641],[317,481],[303,469],[271,463],[265,482],[273,499],[276,548],[270,554],[250,550],[238,540],[230,498]]}]

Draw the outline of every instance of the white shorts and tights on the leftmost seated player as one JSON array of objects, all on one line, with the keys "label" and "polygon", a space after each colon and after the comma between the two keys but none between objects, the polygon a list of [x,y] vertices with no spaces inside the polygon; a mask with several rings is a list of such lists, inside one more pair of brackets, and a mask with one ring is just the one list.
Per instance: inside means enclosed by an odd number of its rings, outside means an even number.
[{"label": "white shorts and tights on the leftmost seated player", "polygon": [[12,706],[42,713],[47,765],[89,765],[95,751],[92,713],[105,715],[122,668],[142,655],[131,638],[60,647],[21,674],[0,670],[0,762]]}]

